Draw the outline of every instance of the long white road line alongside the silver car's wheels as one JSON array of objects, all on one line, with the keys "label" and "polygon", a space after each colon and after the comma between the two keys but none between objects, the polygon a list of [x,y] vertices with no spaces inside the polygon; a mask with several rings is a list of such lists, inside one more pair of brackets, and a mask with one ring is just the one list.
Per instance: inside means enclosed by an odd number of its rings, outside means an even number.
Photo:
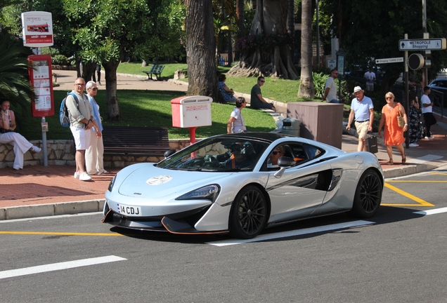
[{"label": "long white road line alongside the silver car's wheels", "polygon": [[276,238],[286,238],[286,237],[290,237],[290,236],[301,236],[304,234],[315,234],[318,232],[331,231],[331,230],[335,230],[335,229],[349,229],[352,227],[360,227],[363,225],[370,225],[370,224],[375,224],[375,222],[358,220],[358,221],[353,221],[353,222],[330,224],[330,225],[325,225],[323,227],[311,227],[308,229],[295,229],[293,231],[282,231],[282,232],[279,232],[276,234],[261,235],[261,236],[257,236],[256,238],[247,239],[247,240],[232,239],[232,240],[225,240],[225,241],[208,242],[207,244],[215,245],[215,246],[236,245],[236,244],[242,244],[242,243],[266,241],[266,240],[271,240],[271,239],[276,239]]}]

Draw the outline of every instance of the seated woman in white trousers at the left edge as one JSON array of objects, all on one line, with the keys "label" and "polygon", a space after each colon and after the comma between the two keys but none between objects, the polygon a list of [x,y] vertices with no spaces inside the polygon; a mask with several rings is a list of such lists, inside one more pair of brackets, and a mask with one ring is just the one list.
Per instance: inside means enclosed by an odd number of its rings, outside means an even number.
[{"label": "seated woman in white trousers at the left edge", "polygon": [[15,133],[15,127],[14,112],[9,109],[9,101],[3,100],[0,112],[0,143],[8,143],[14,147],[13,168],[19,170],[23,168],[23,154],[28,149],[31,149],[32,152],[40,152],[41,149],[28,142],[20,133]]}]

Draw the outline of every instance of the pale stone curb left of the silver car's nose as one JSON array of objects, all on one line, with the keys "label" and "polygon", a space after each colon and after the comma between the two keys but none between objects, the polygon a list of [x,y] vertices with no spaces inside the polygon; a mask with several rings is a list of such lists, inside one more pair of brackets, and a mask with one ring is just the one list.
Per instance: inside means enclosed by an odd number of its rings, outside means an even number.
[{"label": "pale stone curb left of the silver car's nose", "polygon": [[31,217],[50,217],[53,215],[74,215],[103,211],[105,199],[40,204],[34,206],[15,206],[0,208],[1,220],[25,219]]}]

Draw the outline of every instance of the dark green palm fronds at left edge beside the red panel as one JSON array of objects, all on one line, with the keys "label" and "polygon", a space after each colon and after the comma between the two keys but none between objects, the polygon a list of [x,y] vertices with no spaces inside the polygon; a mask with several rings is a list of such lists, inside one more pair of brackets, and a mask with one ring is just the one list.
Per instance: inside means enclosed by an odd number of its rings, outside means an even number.
[{"label": "dark green palm fronds at left edge beside the red panel", "polygon": [[30,105],[33,91],[27,79],[28,64],[20,40],[0,34],[0,100],[10,100],[22,108]]}]

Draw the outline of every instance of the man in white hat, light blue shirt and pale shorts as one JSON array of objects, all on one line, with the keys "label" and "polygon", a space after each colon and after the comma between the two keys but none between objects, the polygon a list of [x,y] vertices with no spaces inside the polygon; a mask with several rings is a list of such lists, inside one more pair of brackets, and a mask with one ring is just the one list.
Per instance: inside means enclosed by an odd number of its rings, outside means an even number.
[{"label": "man in white hat, light blue shirt and pale shorts", "polygon": [[351,123],[356,118],[356,130],[358,133],[357,152],[366,152],[365,140],[368,131],[372,131],[374,121],[374,105],[370,97],[366,97],[365,91],[360,86],[354,88],[354,96],[351,102],[351,112],[349,113],[347,130],[351,129]]}]

